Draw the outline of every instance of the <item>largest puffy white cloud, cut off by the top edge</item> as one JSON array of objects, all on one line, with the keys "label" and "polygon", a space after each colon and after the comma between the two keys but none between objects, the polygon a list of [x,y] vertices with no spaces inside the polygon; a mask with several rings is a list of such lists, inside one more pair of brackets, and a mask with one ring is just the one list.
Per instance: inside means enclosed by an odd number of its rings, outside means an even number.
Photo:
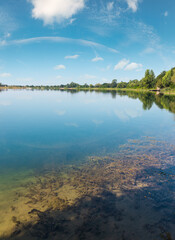
[{"label": "largest puffy white cloud, cut off by the top edge", "polygon": [[61,23],[85,7],[84,0],[29,0],[33,4],[32,17],[44,24]]}]

